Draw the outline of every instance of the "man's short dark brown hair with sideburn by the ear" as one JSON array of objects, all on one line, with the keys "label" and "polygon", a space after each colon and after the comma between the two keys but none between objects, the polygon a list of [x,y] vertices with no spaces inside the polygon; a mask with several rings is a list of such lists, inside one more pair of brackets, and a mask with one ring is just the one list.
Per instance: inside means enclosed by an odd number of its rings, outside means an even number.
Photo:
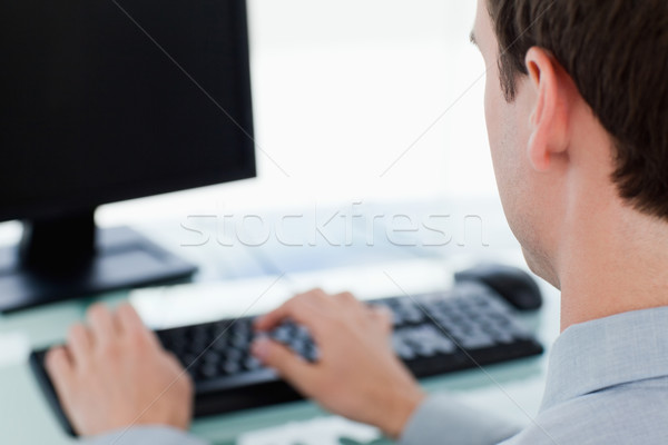
[{"label": "man's short dark brown hair with sideburn by the ear", "polygon": [[507,100],[527,51],[550,51],[615,141],[620,196],[668,219],[668,1],[487,1]]}]

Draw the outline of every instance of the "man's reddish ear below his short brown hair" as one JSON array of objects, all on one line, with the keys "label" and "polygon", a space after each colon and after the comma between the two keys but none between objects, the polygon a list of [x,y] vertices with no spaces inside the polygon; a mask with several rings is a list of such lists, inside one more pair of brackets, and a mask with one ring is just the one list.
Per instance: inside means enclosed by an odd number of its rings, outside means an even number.
[{"label": "man's reddish ear below his short brown hair", "polygon": [[547,171],[551,160],[568,147],[568,75],[544,49],[533,47],[525,58],[530,88],[536,100],[530,117],[529,159],[538,171]]}]

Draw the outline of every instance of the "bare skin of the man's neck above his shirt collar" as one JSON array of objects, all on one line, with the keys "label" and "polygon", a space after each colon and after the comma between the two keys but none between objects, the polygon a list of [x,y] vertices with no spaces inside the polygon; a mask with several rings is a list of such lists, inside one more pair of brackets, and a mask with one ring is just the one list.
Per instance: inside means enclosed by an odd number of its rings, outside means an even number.
[{"label": "bare skin of the man's neck above his shirt collar", "polygon": [[[605,199],[598,202],[606,202]],[[668,306],[668,222],[619,199],[589,202],[559,260],[561,330],[630,310]],[[573,212],[576,215],[576,212]]]}]

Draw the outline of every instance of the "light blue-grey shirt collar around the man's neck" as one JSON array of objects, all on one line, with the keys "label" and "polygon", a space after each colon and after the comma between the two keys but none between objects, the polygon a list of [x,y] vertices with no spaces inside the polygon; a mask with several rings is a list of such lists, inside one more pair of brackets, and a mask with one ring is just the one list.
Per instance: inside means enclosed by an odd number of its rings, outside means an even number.
[{"label": "light blue-grey shirt collar around the man's neck", "polygon": [[567,328],[550,353],[541,411],[611,386],[668,376],[668,307]]}]

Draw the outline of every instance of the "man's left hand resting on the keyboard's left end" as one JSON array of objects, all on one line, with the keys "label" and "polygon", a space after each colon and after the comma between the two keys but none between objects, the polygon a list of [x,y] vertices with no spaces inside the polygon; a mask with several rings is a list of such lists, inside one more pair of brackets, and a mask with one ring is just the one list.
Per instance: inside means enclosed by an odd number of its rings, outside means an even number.
[{"label": "man's left hand resting on the keyboard's left end", "polygon": [[72,326],[67,346],[51,349],[46,367],[82,436],[132,425],[189,425],[193,383],[129,305],[116,314],[92,306],[88,326]]}]

